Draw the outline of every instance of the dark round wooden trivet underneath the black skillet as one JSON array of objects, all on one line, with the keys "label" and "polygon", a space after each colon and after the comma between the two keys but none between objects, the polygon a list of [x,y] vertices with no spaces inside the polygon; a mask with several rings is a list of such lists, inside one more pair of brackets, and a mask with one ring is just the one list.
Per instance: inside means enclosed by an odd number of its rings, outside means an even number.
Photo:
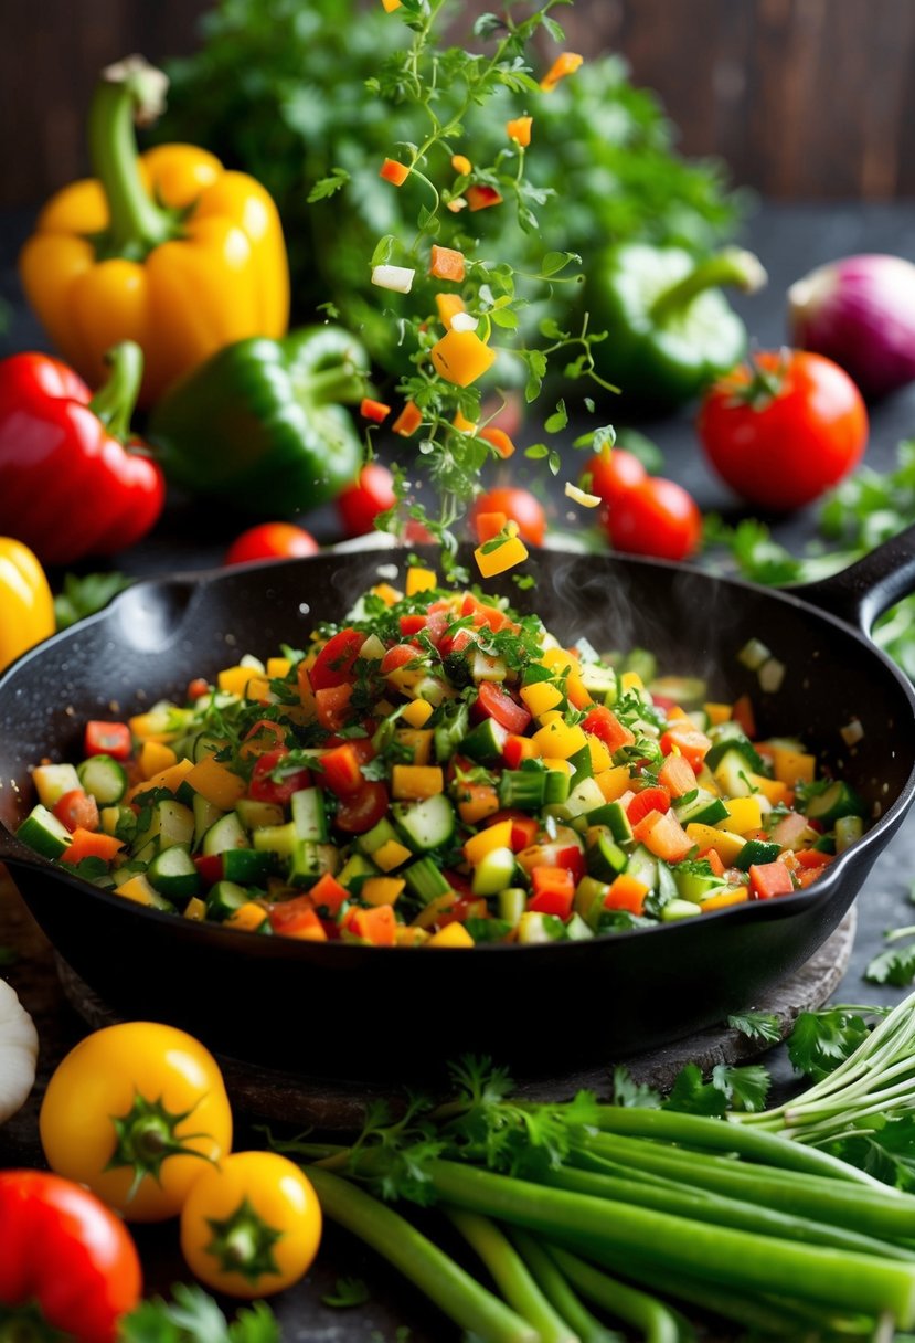
[{"label": "dark round wooden trivet underneath the black skillet", "polygon": [[[790,1033],[801,1011],[821,1007],[845,972],[855,941],[857,916],[852,908],[836,932],[810,960],[753,1003],[758,1011],[778,1018],[782,1038]],[[58,974],[71,1006],[94,1030],[118,1018],[102,999],[58,958]],[[769,1046],[749,1039],[726,1025],[712,1026],[664,1049],[625,1060],[639,1082],[664,1091],[686,1064],[698,1064],[703,1073],[716,1064],[743,1064]],[[353,1131],[362,1125],[366,1107],[385,1100],[396,1112],[404,1104],[397,1084],[341,1081],[286,1073],[219,1056],[232,1103],[246,1115],[325,1131]],[[550,1080],[519,1081],[518,1092],[529,1100],[565,1100],[582,1086],[608,1099],[612,1091],[613,1061]]]}]

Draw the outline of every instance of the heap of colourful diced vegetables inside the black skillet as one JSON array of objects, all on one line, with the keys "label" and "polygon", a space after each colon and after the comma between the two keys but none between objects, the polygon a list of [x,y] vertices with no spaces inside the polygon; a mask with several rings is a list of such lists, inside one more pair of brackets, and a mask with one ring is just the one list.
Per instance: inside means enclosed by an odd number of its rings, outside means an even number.
[{"label": "heap of colourful diced vegetables inside the black skillet", "polygon": [[844,780],[653,658],[562,647],[412,568],[305,651],[246,655],[79,764],[19,835],[185,919],[310,941],[582,940],[806,888],[863,830]]}]

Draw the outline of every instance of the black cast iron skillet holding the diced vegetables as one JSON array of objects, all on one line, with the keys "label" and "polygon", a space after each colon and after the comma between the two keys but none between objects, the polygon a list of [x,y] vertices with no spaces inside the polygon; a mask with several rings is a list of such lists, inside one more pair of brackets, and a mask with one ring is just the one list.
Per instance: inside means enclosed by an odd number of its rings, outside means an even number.
[{"label": "black cast iron skillet holding the diced vegetables", "polygon": [[[380,565],[404,563],[376,551],[140,583],[35,649],[0,680],[0,821],[12,829],[31,806],[30,766],[79,756],[86,719],[181,698],[192,677],[244,651],[302,646]],[[751,693],[762,733],[801,736],[864,795],[876,818],[864,839],[794,896],[588,943],[432,952],[191,923],[98,890],[0,827],[0,857],[76,974],[118,1011],[174,1022],[241,1058],[402,1078],[466,1049],[521,1070],[609,1061],[751,1006],[805,962],[912,802],[915,696],[867,631],[915,588],[915,528],[794,592],[557,552],[537,553],[529,572],[534,590],[506,579],[503,591],[561,637],[653,649],[663,670],[708,677],[712,698]],[[788,667],[777,694],[737,659],[751,637]],[[864,736],[848,749],[839,729],[852,717]]]}]

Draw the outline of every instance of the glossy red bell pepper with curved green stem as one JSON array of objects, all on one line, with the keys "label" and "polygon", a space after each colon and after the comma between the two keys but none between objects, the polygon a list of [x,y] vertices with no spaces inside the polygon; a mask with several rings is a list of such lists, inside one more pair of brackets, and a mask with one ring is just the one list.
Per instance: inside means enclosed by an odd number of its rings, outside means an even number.
[{"label": "glossy red bell pepper with curved green stem", "polygon": [[125,341],[109,360],[95,396],[47,355],[0,363],[0,532],[44,564],[125,551],[162,512],[162,471],[130,436],[142,351]]}]

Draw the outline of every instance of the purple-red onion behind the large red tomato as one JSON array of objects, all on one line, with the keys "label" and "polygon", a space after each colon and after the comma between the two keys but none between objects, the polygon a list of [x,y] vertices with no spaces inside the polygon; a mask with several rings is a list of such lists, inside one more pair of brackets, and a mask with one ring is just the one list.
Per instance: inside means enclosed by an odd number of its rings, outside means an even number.
[{"label": "purple-red onion behind the large red tomato", "polygon": [[915,266],[902,257],[847,257],[788,290],[792,341],[851,373],[864,396],[915,380]]}]

